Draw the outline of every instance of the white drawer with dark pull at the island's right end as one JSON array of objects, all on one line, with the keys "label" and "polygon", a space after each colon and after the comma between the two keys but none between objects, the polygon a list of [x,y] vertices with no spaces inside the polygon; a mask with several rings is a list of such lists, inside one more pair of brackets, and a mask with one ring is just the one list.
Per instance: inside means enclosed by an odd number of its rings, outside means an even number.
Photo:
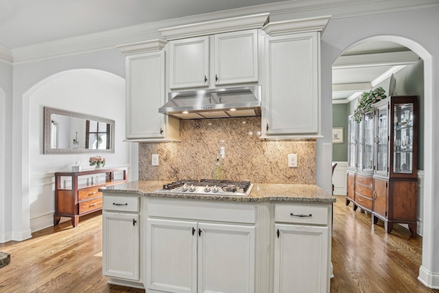
[{"label": "white drawer with dark pull at the island's right end", "polygon": [[328,207],[301,204],[275,204],[274,221],[327,225]]}]

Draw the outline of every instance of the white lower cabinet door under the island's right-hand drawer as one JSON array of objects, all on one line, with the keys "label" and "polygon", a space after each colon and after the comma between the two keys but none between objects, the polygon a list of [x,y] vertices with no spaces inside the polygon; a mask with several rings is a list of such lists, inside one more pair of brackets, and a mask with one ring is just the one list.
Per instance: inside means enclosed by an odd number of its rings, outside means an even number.
[{"label": "white lower cabinet door under the island's right-hand drawer", "polygon": [[327,292],[328,227],[275,225],[274,293]]}]

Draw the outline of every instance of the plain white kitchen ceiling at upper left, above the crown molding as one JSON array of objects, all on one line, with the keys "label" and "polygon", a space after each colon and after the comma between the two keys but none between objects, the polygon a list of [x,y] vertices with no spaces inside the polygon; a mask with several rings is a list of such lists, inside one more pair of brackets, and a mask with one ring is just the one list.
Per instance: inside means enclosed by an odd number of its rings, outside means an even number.
[{"label": "plain white kitchen ceiling at upper left, above the crown molding", "polygon": [[283,0],[0,0],[8,49],[119,27]]}]

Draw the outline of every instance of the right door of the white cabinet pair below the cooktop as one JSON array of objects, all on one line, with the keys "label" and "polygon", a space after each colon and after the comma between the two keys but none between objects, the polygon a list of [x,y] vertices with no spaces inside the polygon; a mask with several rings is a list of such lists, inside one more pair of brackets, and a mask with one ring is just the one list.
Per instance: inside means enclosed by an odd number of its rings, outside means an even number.
[{"label": "right door of the white cabinet pair below the cooktop", "polygon": [[254,226],[198,227],[198,292],[254,292]]}]

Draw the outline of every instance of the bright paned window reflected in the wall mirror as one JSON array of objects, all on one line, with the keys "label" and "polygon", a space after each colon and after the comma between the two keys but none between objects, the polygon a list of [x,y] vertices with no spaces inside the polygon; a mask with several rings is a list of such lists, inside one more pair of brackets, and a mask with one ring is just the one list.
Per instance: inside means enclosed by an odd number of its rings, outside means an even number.
[{"label": "bright paned window reflected in the wall mirror", "polygon": [[86,148],[89,150],[106,150],[110,148],[110,124],[87,120]]}]

